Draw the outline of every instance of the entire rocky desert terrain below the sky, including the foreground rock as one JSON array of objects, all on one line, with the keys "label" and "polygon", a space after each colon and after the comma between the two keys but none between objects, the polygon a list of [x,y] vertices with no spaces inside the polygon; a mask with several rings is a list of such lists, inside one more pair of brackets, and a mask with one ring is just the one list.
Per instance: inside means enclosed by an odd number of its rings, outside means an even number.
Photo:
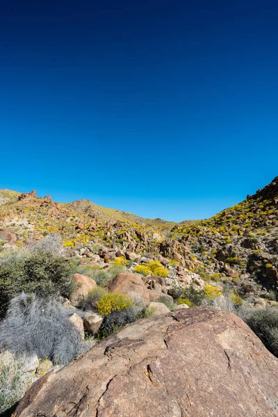
[{"label": "entire rocky desert terrain below the sky, including the foreground rock", "polygon": [[0,411],[276,416],[277,254],[278,177],[181,223],[0,190]]}]

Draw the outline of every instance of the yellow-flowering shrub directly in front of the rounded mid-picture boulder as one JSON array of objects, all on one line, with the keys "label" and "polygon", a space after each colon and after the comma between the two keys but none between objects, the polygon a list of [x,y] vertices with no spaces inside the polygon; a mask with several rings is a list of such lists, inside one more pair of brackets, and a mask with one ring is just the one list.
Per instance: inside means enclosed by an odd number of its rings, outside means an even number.
[{"label": "yellow-flowering shrub directly in front of the rounded mid-picture boulder", "polygon": [[97,302],[97,312],[107,316],[113,311],[129,309],[133,302],[129,297],[119,293],[104,293]]}]

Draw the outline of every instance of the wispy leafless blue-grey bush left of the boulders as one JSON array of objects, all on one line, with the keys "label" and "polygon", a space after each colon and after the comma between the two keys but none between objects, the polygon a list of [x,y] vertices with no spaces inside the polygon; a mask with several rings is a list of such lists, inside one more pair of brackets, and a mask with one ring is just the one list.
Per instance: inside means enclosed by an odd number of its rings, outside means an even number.
[{"label": "wispy leafless blue-grey bush left of the boulders", "polygon": [[22,294],[10,302],[0,325],[0,351],[22,357],[36,354],[54,363],[68,363],[83,352],[81,334],[65,309],[52,297]]}]

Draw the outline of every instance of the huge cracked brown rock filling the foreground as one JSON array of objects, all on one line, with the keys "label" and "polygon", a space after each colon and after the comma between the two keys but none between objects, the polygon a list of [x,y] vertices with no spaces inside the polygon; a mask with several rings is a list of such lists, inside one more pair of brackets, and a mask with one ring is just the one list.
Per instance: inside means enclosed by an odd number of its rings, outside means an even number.
[{"label": "huge cracked brown rock filling the foreground", "polygon": [[14,417],[277,417],[278,360],[234,314],[139,320],[29,389]]}]

